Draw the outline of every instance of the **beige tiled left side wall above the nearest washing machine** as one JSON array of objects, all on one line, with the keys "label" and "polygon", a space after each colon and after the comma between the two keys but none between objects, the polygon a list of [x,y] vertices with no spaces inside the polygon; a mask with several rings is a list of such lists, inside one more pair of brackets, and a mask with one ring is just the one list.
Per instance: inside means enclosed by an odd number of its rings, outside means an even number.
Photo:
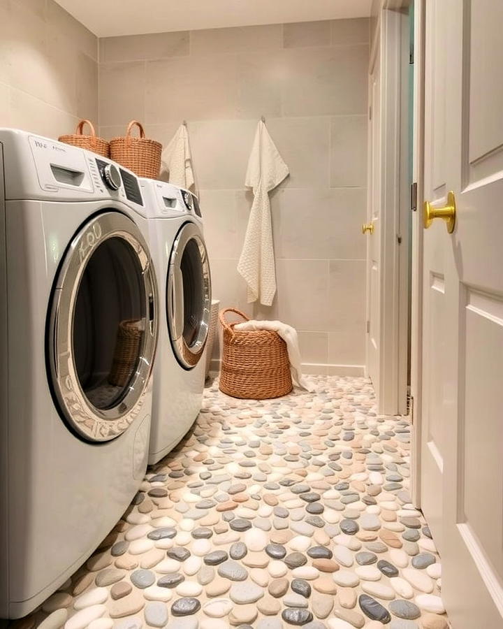
[{"label": "beige tiled left side wall above the nearest washing machine", "polygon": [[97,87],[96,36],[53,0],[0,0],[0,126],[72,133]]}]

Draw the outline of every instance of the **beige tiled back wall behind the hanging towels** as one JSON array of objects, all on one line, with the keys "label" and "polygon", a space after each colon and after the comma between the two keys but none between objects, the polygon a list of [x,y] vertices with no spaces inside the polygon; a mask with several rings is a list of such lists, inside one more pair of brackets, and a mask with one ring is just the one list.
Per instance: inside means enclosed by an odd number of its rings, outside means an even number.
[{"label": "beige tiled back wall behind the hanging towels", "polygon": [[[137,118],[167,143],[187,120],[214,296],[295,326],[315,373],[365,363],[368,36],[368,20],[356,19],[100,40],[101,133]],[[261,115],[291,173],[271,195],[272,308],[246,303],[236,271]]]}]

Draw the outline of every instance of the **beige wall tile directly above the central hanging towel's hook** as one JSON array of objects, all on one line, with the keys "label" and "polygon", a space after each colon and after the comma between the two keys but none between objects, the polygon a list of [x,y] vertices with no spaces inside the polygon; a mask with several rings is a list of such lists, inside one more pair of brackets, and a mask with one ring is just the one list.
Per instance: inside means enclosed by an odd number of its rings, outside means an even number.
[{"label": "beige wall tile directly above the central hanging towel's hook", "polygon": [[281,115],[283,74],[281,51],[238,55],[238,116]]}]

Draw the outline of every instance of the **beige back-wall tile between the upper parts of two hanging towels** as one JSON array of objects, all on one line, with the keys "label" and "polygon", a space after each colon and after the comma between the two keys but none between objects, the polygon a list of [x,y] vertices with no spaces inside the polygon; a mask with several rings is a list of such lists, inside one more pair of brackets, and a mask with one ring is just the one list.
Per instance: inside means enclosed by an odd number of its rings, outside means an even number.
[{"label": "beige back-wall tile between the upper parts of two hanging towels", "polygon": [[190,125],[198,189],[242,189],[255,120],[212,120]]}]

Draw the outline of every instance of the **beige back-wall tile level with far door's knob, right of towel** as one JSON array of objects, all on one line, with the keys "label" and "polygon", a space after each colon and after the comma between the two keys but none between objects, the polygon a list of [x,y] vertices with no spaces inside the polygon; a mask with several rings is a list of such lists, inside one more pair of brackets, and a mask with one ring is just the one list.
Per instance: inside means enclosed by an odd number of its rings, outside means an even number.
[{"label": "beige back-wall tile level with far door's knob, right of towel", "polygon": [[365,259],[364,188],[282,188],[272,198],[277,258]]}]

